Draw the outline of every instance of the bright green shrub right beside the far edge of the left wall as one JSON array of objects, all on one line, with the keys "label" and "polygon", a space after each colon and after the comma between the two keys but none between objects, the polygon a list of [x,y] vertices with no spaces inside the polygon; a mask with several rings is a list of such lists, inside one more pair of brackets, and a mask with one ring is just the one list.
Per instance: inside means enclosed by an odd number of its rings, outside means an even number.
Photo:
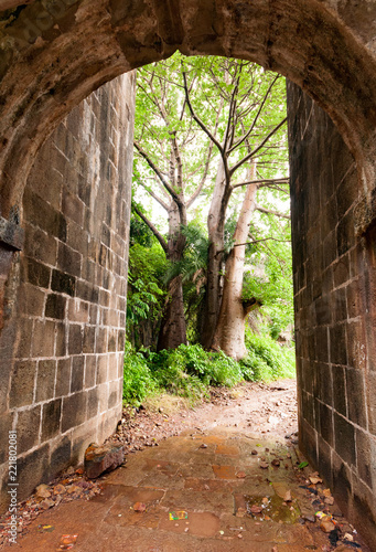
[{"label": "bright green shrub right beside the far edge of the left wall", "polygon": [[127,404],[139,406],[143,399],[154,393],[158,384],[140,352],[135,352],[126,346],[123,362],[122,400]]}]

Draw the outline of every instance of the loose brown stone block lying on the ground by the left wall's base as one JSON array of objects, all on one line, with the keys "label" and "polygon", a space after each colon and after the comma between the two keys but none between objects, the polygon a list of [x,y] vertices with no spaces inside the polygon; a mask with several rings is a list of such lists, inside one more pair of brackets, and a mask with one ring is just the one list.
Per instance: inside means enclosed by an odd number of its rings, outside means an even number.
[{"label": "loose brown stone block lying on the ground by the left wall's base", "polygon": [[95,479],[104,471],[112,471],[123,463],[123,448],[120,445],[96,445],[93,443],[85,452],[85,471]]}]

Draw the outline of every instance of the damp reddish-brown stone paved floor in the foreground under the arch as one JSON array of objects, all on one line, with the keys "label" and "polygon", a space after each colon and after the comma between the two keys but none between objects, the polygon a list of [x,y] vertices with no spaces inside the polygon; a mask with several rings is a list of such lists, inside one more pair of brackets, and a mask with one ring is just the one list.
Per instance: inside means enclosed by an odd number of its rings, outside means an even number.
[{"label": "damp reddish-brown stone paved floor in the foreground under the arch", "polygon": [[[255,449],[257,455],[251,454]],[[281,465],[261,469],[261,457],[268,463],[282,458]],[[294,449],[276,439],[259,440],[226,427],[205,435],[186,431],[128,455],[125,467],[106,477],[101,496],[44,512],[12,550],[55,551],[63,534],[74,533],[74,552],[330,550],[318,524],[290,523],[298,507],[301,516],[314,511],[307,490],[299,487],[296,463]],[[280,484],[276,489],[290,489],[293,501],[283,506],[272,482]],[[262,498],[271,500],[270,520],[246,513]],[[135,511],[137,502],[144,503],[146,511]],[[186,512],[186,519],[178,512]],[[171,520],[170,513],[184,519]],[[41,524],[54,529],[40,532]]]}]

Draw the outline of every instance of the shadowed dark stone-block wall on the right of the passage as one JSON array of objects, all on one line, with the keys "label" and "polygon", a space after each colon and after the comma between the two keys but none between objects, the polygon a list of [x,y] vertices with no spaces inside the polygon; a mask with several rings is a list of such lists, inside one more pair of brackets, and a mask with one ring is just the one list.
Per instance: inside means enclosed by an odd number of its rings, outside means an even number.
[{"label": "shadowed dark stone-block wall on the right of the passage", "polygon": [[331,119],[288,84],[300,447],[376,545],[375,224]]}]

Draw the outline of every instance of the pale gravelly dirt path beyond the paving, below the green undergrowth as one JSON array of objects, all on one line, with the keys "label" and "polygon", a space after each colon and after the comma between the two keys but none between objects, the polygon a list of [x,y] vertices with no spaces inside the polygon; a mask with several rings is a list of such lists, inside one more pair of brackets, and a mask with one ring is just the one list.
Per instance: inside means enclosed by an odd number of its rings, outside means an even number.
[{"label": "pale gravelly dirt path beyond the paving, below the green undergrowth", "polygon": [[[216,426],[238,427],[247,433],[276,436],[298,431],[297,383],[281,380],[266,383],[246,383],[229,390],[214,388],[211,401],[200,406],[179,412],[176,403],[160,401],[153,412],[125,412],[122,426],[115,437],[125,444],[127,452],[142,450],[161,439],[178,435],[185,427],[210,429]],[[114,438],[111,438],[112,440]],[[292,436],[297,443],[297,438]]]}]

